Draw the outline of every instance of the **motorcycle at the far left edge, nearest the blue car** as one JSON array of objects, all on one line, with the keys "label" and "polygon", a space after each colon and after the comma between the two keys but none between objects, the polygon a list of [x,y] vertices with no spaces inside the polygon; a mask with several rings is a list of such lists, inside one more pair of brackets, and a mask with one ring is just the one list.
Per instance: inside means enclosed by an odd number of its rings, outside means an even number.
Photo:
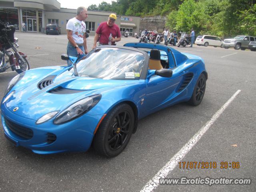
[{"label": "motorcycle at the far left edge, nearest the blue car", "polygon": [[[16,48],[18,38],[14,38],[15,27],[13,25],[6,26],[0,21],[0,72],[12,68],[12,71],[22,73],[29,70],[28,60],[26,55]],[[8,49],[12,50],[8,50]]]}]

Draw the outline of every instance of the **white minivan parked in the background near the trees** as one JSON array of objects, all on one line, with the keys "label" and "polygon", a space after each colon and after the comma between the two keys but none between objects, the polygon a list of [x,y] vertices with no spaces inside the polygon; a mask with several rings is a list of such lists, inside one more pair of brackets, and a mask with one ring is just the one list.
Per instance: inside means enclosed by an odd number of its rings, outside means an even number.
[{"label": "white minivan parked in the background near the trees", "polygon": [[198,46],[204,45],[204,46],[208,46],[208,45],[212,45],[214,47],[221,47],[223,48],[224,46],[224,42],[216,36],[210,36],[210,35],[199,35],[196,38],[195,44]]}]

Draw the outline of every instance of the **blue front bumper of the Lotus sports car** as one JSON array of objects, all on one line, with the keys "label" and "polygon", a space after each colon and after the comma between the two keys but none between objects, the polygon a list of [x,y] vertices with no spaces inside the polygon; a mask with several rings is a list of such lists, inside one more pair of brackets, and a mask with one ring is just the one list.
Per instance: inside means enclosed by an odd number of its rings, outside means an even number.
[{"label": "blue front bumper of the Lotus sports car", "polygon": [[[94,130],[103,115],[90,116],[84,114],[75,120],[61,125],[54,125],[52,120],[37,125],[35,120],[20,117],[1,105],[2,126],[6,138],[15,146],[23,146],[38,154],[53,154],[60,152],[82,152],[90,148]],[[8,123],[7,123],[8,122]],[[16,133],[8,127],[10,122],[17,125]],[[32,137],[21,136],[19,128],[32,130]],[[17,132],[18,131],[18,132]],[[22,130],[24,132],[24,130]],[[26,130],[25,130],[26,131]],[[48,141],[50,135],[56,140]]]}]

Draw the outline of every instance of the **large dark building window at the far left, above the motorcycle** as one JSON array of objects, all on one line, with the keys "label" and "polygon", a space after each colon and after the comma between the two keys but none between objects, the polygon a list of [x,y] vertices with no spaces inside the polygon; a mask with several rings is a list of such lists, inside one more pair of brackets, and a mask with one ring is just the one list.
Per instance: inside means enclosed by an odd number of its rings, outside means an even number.
[{"label": "large dark building window at the far left, above the motorcycle", "polygon": [[19,30],[18,9],[0,7],[0,20],[9,25],[14,25],[16,30]]}]

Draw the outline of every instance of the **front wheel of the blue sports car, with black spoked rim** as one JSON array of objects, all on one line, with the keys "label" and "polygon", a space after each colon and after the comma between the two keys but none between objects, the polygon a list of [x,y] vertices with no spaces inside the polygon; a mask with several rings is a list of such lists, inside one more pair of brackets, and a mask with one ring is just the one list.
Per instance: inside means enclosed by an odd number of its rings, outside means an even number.
[{"label": "front wheel of the blue sports car, with black spoked rim", "polygon": [[127,146],[134,128],[134,113],[128,104],[120,104],[108,112],[93,139],[96,152],[114,157]]}]

